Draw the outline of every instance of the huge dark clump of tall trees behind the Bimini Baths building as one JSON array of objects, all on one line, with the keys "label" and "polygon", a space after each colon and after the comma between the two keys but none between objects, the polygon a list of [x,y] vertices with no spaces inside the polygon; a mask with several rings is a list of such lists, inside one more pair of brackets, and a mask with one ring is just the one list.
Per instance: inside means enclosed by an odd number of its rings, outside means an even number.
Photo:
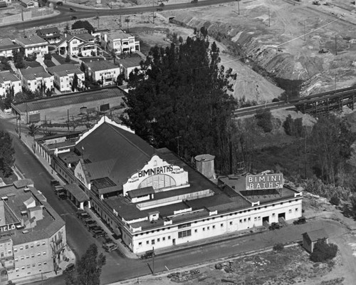
[{"label": "huge dark clump of tall trees behind the Bimini Baths building", "polygon": [[187,159],[216,155],[216,167],[226,172],[236,108],[227,91],[236,74],[219,63],[219,48],[202,34],[179,46],[151,48],[142,71],[130,75],[128,119],[122,120],[145,140]]}]

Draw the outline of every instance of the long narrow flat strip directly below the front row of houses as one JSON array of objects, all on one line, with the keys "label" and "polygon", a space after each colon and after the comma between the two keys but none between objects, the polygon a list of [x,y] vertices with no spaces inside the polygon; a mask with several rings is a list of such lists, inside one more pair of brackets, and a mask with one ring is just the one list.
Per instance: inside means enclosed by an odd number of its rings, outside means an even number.
[{"label": "long narrow flat strip directly below the front row of houses", "polygon": [[117,88],[116,86],[112,86],[103,89],[51,96],[49,98],[31,100],[26,103],[15,103],[13,106],[15,110],[19,110],[19,112],[24,113],[26,111],[31,112],[36,110],[46,110],[50,108],[63,107],[66,105],[103,100],[105,98],[122,97],[123,95],[123,90]]}]

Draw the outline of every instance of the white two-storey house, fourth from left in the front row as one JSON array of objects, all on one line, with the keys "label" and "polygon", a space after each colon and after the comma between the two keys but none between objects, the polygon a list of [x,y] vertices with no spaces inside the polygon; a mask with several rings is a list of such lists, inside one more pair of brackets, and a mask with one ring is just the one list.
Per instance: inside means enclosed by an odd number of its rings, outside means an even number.
[{"label": "white two-storey house, fourth from left in the front row", "polygon": [[99,81],[103,86],[115,83],[120,75],[120,66],[115,66],[110,61],[91,61],[85,63],[88,76],[93,81]]}]

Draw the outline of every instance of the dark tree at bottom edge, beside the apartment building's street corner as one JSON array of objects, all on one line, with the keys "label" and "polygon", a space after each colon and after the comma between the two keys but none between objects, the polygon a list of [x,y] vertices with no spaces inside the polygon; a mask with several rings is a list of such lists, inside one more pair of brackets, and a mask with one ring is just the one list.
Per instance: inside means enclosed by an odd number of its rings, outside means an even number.
[{"label": "dark tree at bottom edge, beside the apartment building's street corner", "polygon": [[99,285],[100,274],[106,264],[105,255],[98,255],[98,247],[90,244],[89,249],[78,261],[76,275],[73,272],[66,274],[66,285]]}]

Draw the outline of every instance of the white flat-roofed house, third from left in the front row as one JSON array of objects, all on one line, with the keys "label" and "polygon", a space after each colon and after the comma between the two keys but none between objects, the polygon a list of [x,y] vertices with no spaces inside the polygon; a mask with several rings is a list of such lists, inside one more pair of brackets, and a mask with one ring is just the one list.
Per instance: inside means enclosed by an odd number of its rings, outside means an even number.
[{"label": "white flat-roofed house, third from left in the front row", "polygon": [[83,82],[85,81],[85,73],[80,71],[80,69],[73,64],[62,64],[61,66],[53,66],[47,68],[48,73],[50,73],[54,78],[54,85],[61,92],[72,91],[72,83],[74,74],[78,76],[78,88],[83,87]]}]

